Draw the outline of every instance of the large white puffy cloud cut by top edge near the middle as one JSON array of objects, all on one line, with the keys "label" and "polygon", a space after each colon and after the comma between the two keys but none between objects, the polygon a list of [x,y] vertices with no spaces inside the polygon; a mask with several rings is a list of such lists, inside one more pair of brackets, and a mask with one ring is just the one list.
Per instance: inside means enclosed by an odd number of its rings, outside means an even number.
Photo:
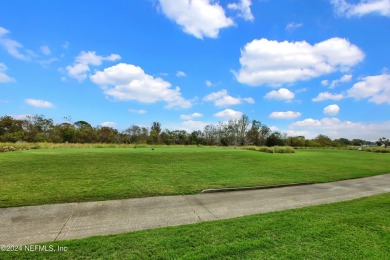
[{"label": "large white puffy cloud cut by top edge near the middle", "polygon": [[225,10],[210,0],[159,0],[163,13],[196,38],[217,38],[219,30],[234,25]]}]

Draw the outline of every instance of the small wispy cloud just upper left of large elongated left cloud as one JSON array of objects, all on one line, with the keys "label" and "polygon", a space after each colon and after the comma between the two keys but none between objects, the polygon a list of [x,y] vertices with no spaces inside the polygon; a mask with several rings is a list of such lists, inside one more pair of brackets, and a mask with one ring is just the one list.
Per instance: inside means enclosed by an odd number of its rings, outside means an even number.
[{"label": "small wispy cloud just upper left of large elongated left cloud", "polygon": [[97,55],[94,51],[82,51],[75,58],[73,65],[66,67],[68,76],[75,78],[79,81],[83,81],[88,77],[88,72],[90,71],[90,66],[99,66],[103,61],[116,61],[119,60],[121,56],[118,54],[111,54],[109,56],[100,56]]}]

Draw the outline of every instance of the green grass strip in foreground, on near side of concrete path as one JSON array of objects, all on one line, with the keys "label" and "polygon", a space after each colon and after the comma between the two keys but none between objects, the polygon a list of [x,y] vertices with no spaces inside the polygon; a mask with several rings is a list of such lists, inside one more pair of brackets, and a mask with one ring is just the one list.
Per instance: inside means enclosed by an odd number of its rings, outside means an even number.
[{"label": "green grass strip in foreground, on near side of concrete path", "polygon": [[46,243],[1,259],[389,259],[390,193],[349,202]]}]

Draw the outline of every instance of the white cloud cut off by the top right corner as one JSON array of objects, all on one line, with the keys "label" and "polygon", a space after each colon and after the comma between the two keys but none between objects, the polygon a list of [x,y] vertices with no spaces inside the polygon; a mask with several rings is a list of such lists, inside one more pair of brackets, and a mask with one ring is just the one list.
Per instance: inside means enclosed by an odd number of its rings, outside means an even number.
[{"label": "white cloud cut off by the top right corner", "polygon": [[379,14],[390,16],[389,0],[361,0],[359,3],[351,4],[346,0],[331,0],[335,11],[340,16],[363,16],[367,14]]}]

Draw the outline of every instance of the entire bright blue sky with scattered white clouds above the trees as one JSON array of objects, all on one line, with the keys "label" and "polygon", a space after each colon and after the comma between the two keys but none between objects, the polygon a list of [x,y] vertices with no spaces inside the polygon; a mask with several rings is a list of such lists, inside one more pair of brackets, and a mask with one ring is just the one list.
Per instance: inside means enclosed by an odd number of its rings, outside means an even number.
[{"label": "entire bright blue sky with scattered white clouds above the trees", "polygon": [[389,0],[0,1],[0,116],[390,133]]}]

